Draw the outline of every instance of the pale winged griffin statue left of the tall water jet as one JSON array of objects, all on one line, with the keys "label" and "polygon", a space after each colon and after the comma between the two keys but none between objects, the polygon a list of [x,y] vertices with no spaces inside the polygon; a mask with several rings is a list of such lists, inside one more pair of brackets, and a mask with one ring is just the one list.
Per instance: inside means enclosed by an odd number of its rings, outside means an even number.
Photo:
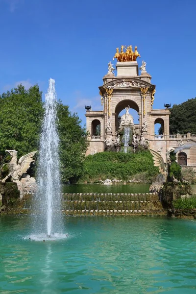
[{"label": "pale winged griffin statue left of the tall water jet", "polygon": [[[8,166],[8,175],[1,180],[1,183],[4,183],[9,177],[11,177],[12,181],[18,183],[20,178],[26,171],[29,169],[31,162],[33,162],[33,156],[37,151],[30,152],[24,156],[22,156],[17,164],[17,153],[16,150],[5,150],[11,156],[11,160],[9,163],[5,163],[4,165]],[[2,166],[2,167],[3,167]]]}]

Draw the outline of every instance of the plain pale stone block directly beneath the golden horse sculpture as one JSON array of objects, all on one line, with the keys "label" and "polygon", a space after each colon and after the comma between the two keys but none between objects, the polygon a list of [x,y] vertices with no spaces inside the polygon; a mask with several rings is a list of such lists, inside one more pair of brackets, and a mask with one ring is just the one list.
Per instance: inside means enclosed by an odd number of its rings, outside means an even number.
[{"label": "plain pale stone block directly beneath the golden horse sculpture", "polygon": [[117,62],[117,77],[121,76],[138,76],[137,61]]}]

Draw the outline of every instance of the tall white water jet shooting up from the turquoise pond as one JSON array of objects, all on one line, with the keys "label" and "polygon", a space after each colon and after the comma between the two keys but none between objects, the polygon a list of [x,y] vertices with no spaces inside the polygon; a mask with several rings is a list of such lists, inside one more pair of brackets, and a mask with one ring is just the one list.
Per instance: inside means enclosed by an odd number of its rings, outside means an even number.
[{"label": "tall white water jet shooting up from the turquoise pond", "polygon": [[[57,133],[55,81],[49,79],[45,95],[45,116],[40,138],[37,183],[35,195],[34,233],[50,236],[61,234],[63,229],[61,210],[61,188],[59,174],[59,136]],[[32,239],[32,238],[31,238]]]}]

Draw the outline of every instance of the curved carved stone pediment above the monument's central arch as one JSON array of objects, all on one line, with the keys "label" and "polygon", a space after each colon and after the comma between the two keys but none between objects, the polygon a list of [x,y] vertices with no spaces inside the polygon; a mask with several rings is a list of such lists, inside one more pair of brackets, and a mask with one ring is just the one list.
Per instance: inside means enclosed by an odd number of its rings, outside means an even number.
[{"label": "curved carved stone pediment above the monument's central arch", "polygon": [[103,86],[99,87],[99,90],[102,94],[106,92],[106,89],[130,89],[130,88],[149,88],[150,90],[155,89],[155,85],[152,85],[148,83],[147,81],[144,81],[140,78],[130,78],[130,77],[124,77],[124,78],[116,78],[112,81],[104,84]]}]

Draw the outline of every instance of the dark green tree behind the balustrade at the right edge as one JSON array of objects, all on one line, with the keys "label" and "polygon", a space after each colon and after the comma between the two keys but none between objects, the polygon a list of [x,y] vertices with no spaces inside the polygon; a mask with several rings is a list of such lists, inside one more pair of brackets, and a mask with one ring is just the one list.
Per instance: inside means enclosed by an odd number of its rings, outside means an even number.
[{"label": "dark green tree behind the balustrade at the right edge", "polygon": [[196,98],[174,104],[170,111],[170,134],[196,134]]}]

